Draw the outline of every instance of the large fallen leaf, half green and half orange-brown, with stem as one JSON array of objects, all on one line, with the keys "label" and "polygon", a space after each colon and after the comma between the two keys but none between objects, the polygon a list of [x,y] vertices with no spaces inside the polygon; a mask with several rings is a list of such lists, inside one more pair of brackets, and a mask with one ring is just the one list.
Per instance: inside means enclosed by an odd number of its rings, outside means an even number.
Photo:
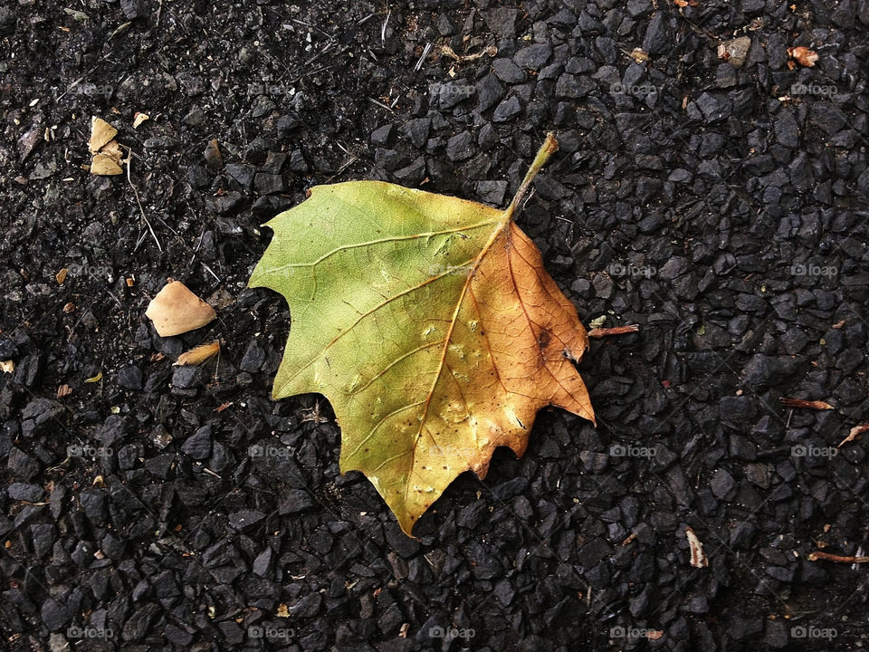
[{"label": "large fallen leaf, half green and half orange-brown, with stem", "polygon": [[292,320],[272,397],[329,399],[341,472],[367,475],[408,535],[497,446],[521,456],[540,408],[594,421],[574,366],[586,331],[513,222],[556,149],[549,134],[506,210],[350,181],[267,223],[249,285],[280,292]]}]

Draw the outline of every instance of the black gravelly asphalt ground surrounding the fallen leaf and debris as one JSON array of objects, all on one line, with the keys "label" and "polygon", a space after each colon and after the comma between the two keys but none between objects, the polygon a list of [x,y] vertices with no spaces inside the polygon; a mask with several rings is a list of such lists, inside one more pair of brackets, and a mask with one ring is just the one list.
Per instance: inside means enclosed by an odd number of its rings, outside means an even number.
[{"label": "black gravelly asphalt ground surrounding the fallen leaf and debris", "polygon": [[[869,552],[869,438],[836,448],[869,421],[869,0],[690,4],[0,6],[4,645],[869,643],[867,566],[807,561]],[[81,168],[92,115],[132,185]],[[597,428],[544,411],[417,542],[339,475],[323,398],[271,400],[258,225],[347,179],[503,206],[549,130],[520,225],[584,321],[641,331],[580,366]],[[159,338],[170,276],[219,319]]]}]

